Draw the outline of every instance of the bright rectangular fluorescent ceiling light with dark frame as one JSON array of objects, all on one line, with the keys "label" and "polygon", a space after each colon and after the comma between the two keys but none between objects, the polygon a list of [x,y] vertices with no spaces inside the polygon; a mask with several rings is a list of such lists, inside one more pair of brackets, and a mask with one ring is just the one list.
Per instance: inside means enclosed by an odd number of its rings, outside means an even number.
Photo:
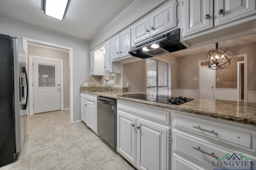
[{"label": "bright rectangular fluorescent ceiling light with dark frame", "polygon": [[63,20],[70,0],[43,0],[44,14],[58,20]]}]

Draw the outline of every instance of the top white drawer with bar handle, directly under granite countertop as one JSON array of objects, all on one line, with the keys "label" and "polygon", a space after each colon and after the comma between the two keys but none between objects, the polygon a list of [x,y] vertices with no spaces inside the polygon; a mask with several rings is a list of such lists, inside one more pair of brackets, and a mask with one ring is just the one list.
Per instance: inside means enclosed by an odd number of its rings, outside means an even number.
[{"label": "top white drawer with bar handle, directly under granite countertop", "polygon": [[220,141],[220,143],[255,152],[255,147],[252,145],[255,143],[252,131],[186,115],[175,114],[174,117],[174,127],[193,131],[204,135],[204,137]]}]

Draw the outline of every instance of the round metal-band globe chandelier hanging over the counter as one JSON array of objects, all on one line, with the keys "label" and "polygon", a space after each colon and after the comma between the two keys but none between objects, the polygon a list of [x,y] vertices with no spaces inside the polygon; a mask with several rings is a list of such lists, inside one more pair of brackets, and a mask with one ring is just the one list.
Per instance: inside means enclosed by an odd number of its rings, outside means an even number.
[{"label": "round metal-band globe chandelier hanging over the counter", "polygon": [[232,50],[224,47],[218,47],[219,43],[215,43],[216,48],[208,51],[205,55],[204,65],[212,70],[225,68],[231,64],[234,58]]}]

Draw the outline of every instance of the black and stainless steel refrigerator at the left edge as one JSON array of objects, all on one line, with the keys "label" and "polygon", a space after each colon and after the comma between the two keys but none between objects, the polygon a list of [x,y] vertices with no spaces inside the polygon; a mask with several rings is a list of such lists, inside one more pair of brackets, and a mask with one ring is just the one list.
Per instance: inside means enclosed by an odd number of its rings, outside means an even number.
[{"label": "black and stainless steel refrigerator at the left edge", "polygon": [[18,159],[28,132],[26,55],[18,39],[0,34],[0,167]]}]

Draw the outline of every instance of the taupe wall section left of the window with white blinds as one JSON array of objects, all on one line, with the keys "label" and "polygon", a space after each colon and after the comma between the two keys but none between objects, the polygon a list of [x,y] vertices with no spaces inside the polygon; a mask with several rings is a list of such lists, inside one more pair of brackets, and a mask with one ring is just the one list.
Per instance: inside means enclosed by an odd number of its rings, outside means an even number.
[{"label": "taupe wall section left of the window with white blinds", "polygon": [[123,64],[123,87],[129,92],[146,92],[146,59]]}]

